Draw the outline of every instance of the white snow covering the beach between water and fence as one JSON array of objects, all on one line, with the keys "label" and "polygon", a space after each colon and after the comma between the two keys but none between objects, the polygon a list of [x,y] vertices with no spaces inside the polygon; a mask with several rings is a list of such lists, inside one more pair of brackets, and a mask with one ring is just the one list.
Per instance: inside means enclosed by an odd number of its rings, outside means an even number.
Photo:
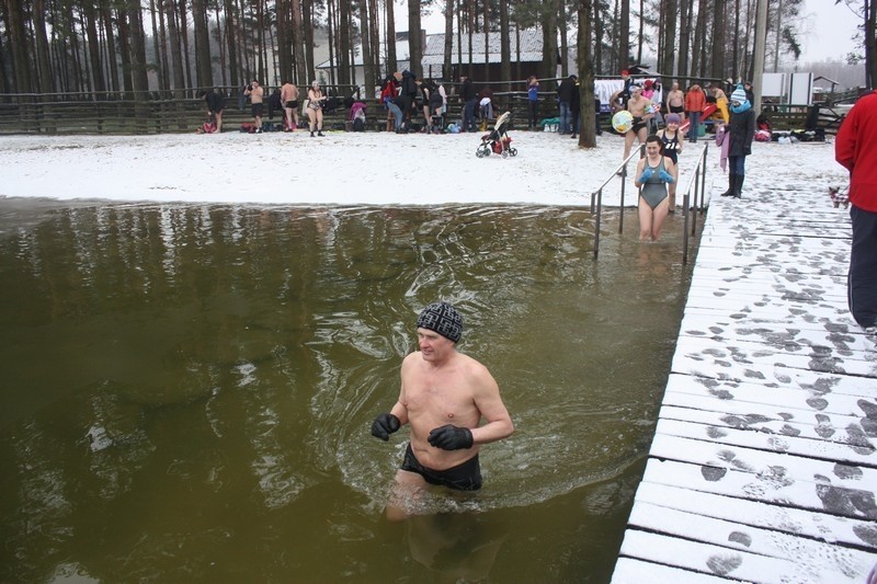
[{"label": "white snow covering the beach between water and fence", "polygon": [[[610,180],[604,205],[617,206],[623,140],[604,134],[595,149],[554,133],[510,130],[514,158],[475,156],[482,133],[396,135],[307,131],[247,135],[0,137],[0,196],[186,203],[433,205],[505,203],[590,205]],[[727,187],[711,140],[685,142],[680,191],[709,145],[706,192]],[[751,180],[816,188],[846,184],[831,142],[753,144]],[[628,172],[634,172],[634,162]],[[752,182],[752,181],[750,181]],[[627,206],[636,203],[627,179]],[[752,185],[754,186],[754,185]],[[682,197],[677,195],[677,202]]]}]

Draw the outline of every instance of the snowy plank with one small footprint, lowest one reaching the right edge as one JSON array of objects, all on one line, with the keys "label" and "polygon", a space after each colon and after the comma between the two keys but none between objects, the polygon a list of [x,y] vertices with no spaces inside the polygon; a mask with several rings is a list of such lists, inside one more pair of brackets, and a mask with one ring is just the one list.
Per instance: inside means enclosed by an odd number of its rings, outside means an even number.
[{"label": "snowy plank with one small footprint, lowest one reaching the right edge", "polygon": [[[629,523],[657,534],[774,558],[779,561],[779,565],[790,561],[796,566],[804,568],[811,582],[861,582],[877,561],[877,553],[842,548],[824,541],[743,525],[736,520],[706,517],[643,501],[635,505]],[[793,577],[795,579],[793,581],[797,582],[798,574],[784,574],[784,576]]]}]

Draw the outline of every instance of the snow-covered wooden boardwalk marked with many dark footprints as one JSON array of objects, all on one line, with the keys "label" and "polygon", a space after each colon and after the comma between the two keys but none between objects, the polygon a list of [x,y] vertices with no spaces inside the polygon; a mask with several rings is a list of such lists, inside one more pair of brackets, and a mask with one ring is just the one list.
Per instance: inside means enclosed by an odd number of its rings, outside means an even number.
[{"label": "snow-covered wooden boardwalk marked with many dark footprints", "polygon": [[710,203],[614,583],[877,563],[877,347],[846,309],[848,213],[809,174]]}]

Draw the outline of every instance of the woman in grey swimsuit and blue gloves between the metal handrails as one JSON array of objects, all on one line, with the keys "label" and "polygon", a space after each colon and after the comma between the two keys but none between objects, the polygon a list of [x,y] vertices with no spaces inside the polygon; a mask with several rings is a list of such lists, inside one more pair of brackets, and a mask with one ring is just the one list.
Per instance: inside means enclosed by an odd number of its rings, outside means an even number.
[{"label": "woman in grey swimsuit and blue gloves between the metal handrails", "polygon": [[658,241],[667,219],[667,183],[675,182],[673,161],[661,151],[661,139],[646,138],[646,158],[639,159],[636,181],[639,188],[639,241]]}]

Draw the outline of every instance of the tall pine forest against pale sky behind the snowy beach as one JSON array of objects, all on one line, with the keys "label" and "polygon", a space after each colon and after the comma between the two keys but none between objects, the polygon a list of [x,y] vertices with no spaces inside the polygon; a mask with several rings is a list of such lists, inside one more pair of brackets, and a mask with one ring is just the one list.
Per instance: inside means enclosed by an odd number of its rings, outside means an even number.
[{"label": "tall pine forest against pale sky behind the snowy beach", "polygon": [[[397,70],[396,43],[388,39],[420,31],[424,11],[444,14],[446,77],[454,36],[465,72],[471,38],[499,32],[502,79],[511,80],[512,35],[538,27],[543,78],[556,77],[558,65],[563,76],[576,67],[617,75],[649,55],[654,69],[681,78],[752,79],[759,1],[2,0],[0,93],[147,99],[150,92],[182,96],[195,88],[239,87],[252,78],[306,84],[318,78],[317,35],[338,64],[332,84],[375,87]],[[782,70],[782,62],[800,56],[796,23],[804,0],[761,1],[767,3],[764,69]],[[862,55],[851,58],[865,65],[872,84],[877,0],[825,1],[862,15]],[[410,35],[412,64],[422,49],[419,35]],[[357,56],[364,79],[354,78]]]}]

